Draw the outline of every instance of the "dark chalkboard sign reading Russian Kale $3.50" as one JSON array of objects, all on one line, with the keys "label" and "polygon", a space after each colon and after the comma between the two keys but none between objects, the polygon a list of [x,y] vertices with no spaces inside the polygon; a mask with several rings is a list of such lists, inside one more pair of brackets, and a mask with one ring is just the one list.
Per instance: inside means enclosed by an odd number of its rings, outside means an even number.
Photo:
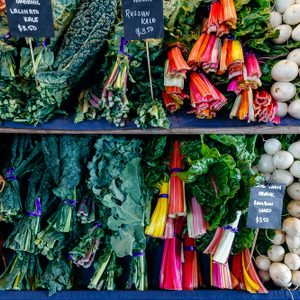
[{"label": "dark chalkboard sign reading Russian Kale $3.50", "polygon": [[122,12],[126,40],[164,36],[163,0],[123,0]]}]

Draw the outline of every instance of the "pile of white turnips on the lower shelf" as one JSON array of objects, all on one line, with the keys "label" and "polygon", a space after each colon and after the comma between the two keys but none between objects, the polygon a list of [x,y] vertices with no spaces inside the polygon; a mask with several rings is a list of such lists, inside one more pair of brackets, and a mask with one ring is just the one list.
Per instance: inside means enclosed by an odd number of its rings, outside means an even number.
[{"label": "pile of white turnips on the lower shelf", "polygon": [[282,229],[275,231],[272,246],[267,256],[255,259],[260,278],[270,279],[280,287],[300,286],[300,141],[291,144],[288,151],[282,150],[278,139],[271,138],[264,143],[258,171],[266,180],[273,180],[287,186],[292,199],[287,206],[289,216],[284,219]]}]

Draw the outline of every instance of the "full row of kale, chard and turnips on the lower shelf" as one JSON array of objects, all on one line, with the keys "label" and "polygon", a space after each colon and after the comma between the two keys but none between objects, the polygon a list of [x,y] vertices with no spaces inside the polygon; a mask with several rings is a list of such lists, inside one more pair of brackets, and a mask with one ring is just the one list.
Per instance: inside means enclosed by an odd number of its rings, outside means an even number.
[{"label": "full row of kale, chard and turnips on the lower shelf", "polygon": [[[50,295],[65,289],[146,290],[158,276],[152,289],[267,293],[267,271],[277,284],[278,264],[300,267],[299,183],[293,182],[300,177],[300,155],[292,138],[288,151],[291,139],[267,140],[268,154],[261,158],[257,136],[4,139],[1,221],[9,228],[9,255],[0,289],[47,289]],[[18,172],[25,162],[26,171]],[[274,245],[256,257],[257,273],[254,230],[246,228],[246,217],[250,189],[264,177],[289,184],[293,200]],[[289,255],[281,246],[285,241]],[[153,264],[159,274],[149,271]],[[80,278],[83,269],[89,272]]]}]

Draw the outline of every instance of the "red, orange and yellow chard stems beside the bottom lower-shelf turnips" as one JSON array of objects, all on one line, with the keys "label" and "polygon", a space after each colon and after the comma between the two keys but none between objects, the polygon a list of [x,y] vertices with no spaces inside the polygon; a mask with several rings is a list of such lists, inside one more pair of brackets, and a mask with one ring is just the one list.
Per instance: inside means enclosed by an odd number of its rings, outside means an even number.
[{"label": "red, orange and yellow chard stems beside the bottom lower-shelf turnips", "polygon": [[232,257],[231,268],[238,281],[237,290],[262,294],[268,292],[256,273],[249,249],[244,249],[241,253]]}]

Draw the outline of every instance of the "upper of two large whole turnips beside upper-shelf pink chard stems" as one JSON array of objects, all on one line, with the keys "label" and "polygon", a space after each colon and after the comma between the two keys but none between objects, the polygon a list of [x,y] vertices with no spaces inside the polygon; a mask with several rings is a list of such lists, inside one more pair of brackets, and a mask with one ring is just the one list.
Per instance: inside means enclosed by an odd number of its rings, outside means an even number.
[{"label": "upper of two large whole turnips beside upper-shelf pink chard stems", "polygon": [[298,73],[298,65],[294,61],[283,59],[273,66],[271,76],[275,81],[290,82],[298,77]]}]

